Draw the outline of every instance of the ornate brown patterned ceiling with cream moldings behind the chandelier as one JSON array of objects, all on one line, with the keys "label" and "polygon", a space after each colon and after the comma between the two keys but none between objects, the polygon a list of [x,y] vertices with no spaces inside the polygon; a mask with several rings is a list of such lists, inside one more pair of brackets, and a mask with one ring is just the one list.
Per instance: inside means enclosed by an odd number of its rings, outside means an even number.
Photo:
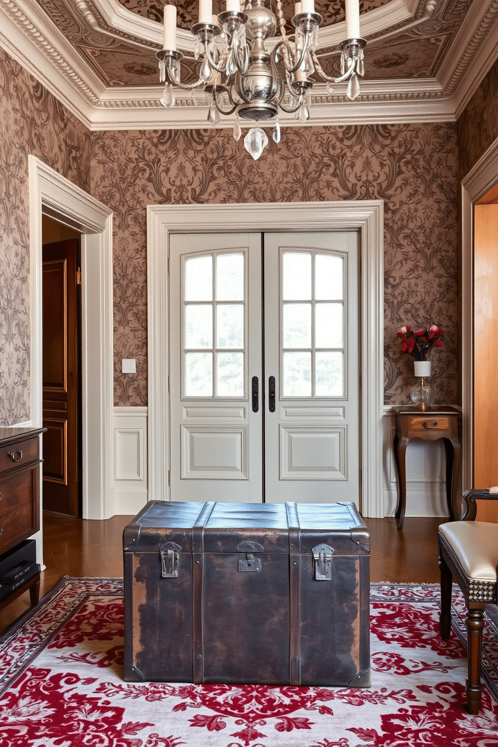
[{"label": "ornate brown patterned ceiling with cream moldings behind the chandelier", "polygon": [[[275,0],[268,3],[276,10]],[[293,0],[283,4],[290,34]],[[224,5],[214,0],[214,13]],[[343,5],[315,2],[329,75],[337,75],[346,37]],[[169,110],[159,102],[161,0],[0,0],[0,7],[0,45],[90,129],[206,126],[202,90],[178,90]],[[189,29],[198,2],[178,0],[177,7],[184,75],[195,75]],[[498,57],[498,0],[361,0],[360,11],[367,40],[361,96],[349,102],[346,84],[331,91],[317,82],[309,125],[455,120]]]}]

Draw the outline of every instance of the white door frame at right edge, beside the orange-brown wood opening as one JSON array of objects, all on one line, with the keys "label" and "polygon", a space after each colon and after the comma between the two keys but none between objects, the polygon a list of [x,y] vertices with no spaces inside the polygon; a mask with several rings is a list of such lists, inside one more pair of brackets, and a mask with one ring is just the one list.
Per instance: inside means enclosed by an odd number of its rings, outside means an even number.
[{"label": "white door frame at right edge, beside the orange-brown wood opening", "polygon": [[498,138],[461,182],[462,491],[473,488],[474,203],[498,182]]}]

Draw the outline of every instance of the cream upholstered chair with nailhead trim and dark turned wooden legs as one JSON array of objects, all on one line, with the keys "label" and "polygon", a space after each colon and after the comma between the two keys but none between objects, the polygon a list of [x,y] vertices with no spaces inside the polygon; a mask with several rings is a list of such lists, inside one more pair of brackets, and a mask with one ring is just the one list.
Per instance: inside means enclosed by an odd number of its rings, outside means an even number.
[{"label": "cream upholstered chair with nailhead trim and dark turned wooden legs", "polygon": [[451,629],[452,579],[460,586],[467,605],[467,705],[478,713],[481,704],[481,654],[486,604],[498,604],[498,524],[475,521],[476,500],[498,500],[498,487],[467,490],[467,509],[460,521],[441,524],[438,530],[441,571],[441,638]]}]

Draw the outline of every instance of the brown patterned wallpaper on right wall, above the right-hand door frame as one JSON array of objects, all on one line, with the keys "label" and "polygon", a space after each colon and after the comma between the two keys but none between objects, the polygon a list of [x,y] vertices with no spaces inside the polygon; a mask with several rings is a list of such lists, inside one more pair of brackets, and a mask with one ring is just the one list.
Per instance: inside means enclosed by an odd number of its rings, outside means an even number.
[{"label": "brown patterned wallpaper on right wall, above the right-hand door frame", "polygon": [[461,117],[458,117],[460,179],[469,173],[498,137],[497,99],[498,61],[470,99]]}]

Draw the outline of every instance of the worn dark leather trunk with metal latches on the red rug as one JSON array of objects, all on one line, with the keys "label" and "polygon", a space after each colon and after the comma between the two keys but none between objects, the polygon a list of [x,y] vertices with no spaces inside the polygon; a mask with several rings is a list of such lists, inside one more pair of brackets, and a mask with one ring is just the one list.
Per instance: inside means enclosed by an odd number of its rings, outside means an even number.
[{"label": "worn dark leather trunk with metal latches on the red rug", "polygon": [[353,503],[147,503],[123,554],[127,681],[370,686]]}]

